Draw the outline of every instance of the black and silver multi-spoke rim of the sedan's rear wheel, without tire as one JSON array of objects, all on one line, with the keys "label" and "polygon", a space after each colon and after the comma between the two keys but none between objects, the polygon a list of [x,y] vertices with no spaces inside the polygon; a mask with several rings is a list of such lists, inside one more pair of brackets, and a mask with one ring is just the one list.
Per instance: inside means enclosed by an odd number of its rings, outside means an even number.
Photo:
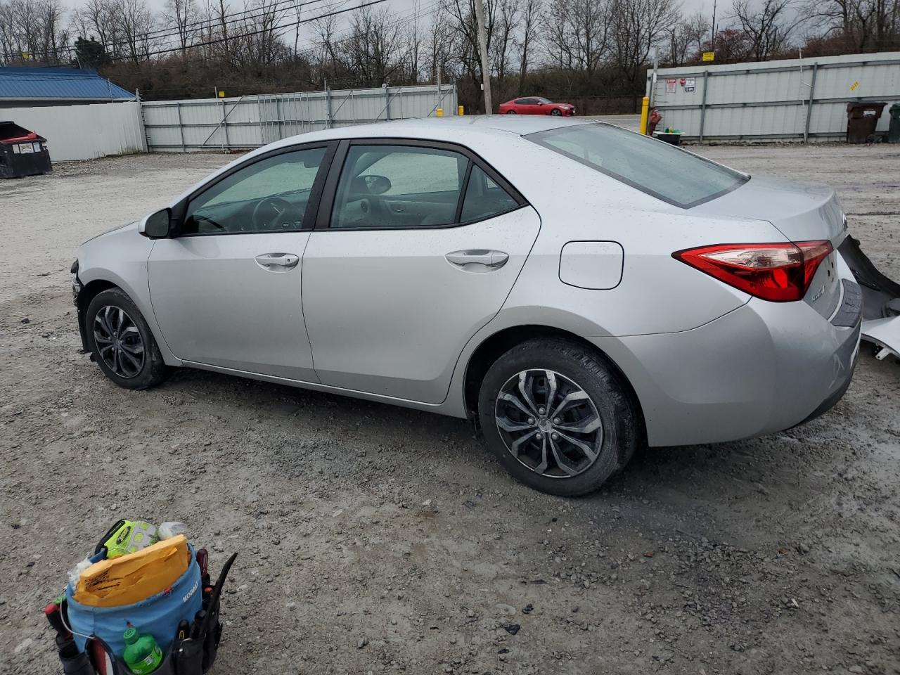
[{"label": "black and silver multi-spoke rim of the sedan's rear wheel, without tire", "polygon": [[548,478],[587,471],[603,444],[597,406],[581,387],[552,370],[522,371],[500,388],[494,419],[509,453]]}]

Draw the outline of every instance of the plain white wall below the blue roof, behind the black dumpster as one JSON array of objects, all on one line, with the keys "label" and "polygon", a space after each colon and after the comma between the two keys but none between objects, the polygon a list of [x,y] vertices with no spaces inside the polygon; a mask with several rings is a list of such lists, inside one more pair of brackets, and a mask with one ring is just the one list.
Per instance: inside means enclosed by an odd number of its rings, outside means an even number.
[{"label": "plain white wall below the blue roof, behind the black dumpster", "polygon": [[147,151],[137,101],[0,108],[0,120],[47,139],[54,162]]}]

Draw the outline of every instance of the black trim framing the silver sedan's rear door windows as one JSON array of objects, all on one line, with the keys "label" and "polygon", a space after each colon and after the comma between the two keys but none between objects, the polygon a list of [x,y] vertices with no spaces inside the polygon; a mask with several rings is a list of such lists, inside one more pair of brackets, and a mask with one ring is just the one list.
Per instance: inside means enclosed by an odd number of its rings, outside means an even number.
[{"label": "black trim framing the silver sedan's rear door windows", "polygon": [[[331,227],[331,211],[334,209],[334,202],[338,196],[338,182],[340,180],[340,175],[344,171],[344,164],[347,160],[347,153],[350,150],[350,146],[356,145],[393,145],[393,146],[401,146],[406,148],[427,148],[427,149],[435,149],[435,150],[445,150],[448,152],[456,152],[464,157],[468,158],[469,165],[466,166],[465,175],[463,176],[463,181],[460,184],[460,193],[459,198],[456,202],[456,211],[454,215],[455,222],[448,223],[446,225],[387,225],[379,228],[332,228]],[[465,191],[469,186],[469,176],[472,174],[472,166],[473,164],[477,164],[482,171],[491,177],[491,180],[494,183],[498,184],[501,188],[503,188],[510,197],[513,198],[516,202],[516,206],[508,211],[500,211],[499,213],[494,213],[488,218],[480,218],[477,220],[467,220],[465,222],[460,222],[460,217],[463,211],[463,202],[465,200]],[[459,145],[458,143],[451,143],[446,140],[426,140],[426,139],[408,139],[408,138],[358,138],[358,139],[341,139],[338,142],[338,148],[335,151],[335,155],[332,158],[331,166],[329,166],[329,175],[325,180],[325,186],[323,189],[323,193],[321,195],[319,201],[319,211],[316,214],[316,223],[315,223],[315,231],[334,231],[334,232],[378,232],[384,230],[392,230],[392,229],[447,229],[447,228],[459,228],[464,225],[473,225],[476,222],[481,222],[482,220],[489,220],[490,218],[496,218],[497,216],[504,215],[506,213],[511,213],[512,211],[517,211],[521,209],[523,206],[528,206],[529,203],[527,199],[520,193],[515,185],[509,183],[509,181],[498,173],[498,171],[488,164],[482,157],[473,152],[472,149],[466,148],[463,145]],[[304,222],[305,224],[305,222]]]}]

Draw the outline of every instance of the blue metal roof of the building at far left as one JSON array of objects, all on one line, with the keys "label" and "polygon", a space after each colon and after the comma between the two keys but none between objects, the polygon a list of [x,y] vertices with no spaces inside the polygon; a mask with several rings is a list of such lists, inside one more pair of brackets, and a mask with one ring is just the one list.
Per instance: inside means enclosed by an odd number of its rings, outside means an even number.
[{"label": "blue metal roof of the building at far left", "polygon": [[125,101],[134,94],[113,85],[95,70],[0,67],[0,107]]}]

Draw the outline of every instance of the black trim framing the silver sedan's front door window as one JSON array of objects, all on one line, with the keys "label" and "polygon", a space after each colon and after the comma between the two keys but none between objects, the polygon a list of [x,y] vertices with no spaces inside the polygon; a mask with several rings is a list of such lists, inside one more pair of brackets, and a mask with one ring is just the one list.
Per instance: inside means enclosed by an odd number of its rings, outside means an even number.
[{"label": "black trim framing the silver sedan's front door window", "polygon": [[[269,150],[268,152],[264,152],[261,155],[257,155],[257,157],[253,157],[253,159],[240,162],[235,166],[229,168],[228,171],[222,172],[220,175],[215,176],[207,183],[202,184],[192,193],[188,194],[184,197],[180,202],[176,203],[172,209],[172,219],[174,221],[174,230],[175,232],[169,235],[169,238],[188,238],[188,237],[230,237],[232,235],[247,235],[247,234],[285,234],[288,232],[308,232],[313,229],[315,225],[315,214],[319,207],[319,202],[321,199],[322,191],[325,187],[325,179],[329,175],[329,171],[331,169],[331,163],[334,160],[335,151],[337,149],[338,142],[335,140],[320,140],[314,141],[311,143],[299,143],[296,145],[284,146],[283,148],[275,148],[273,150]],[[187,208],[188,205],[197,197],[201,196],[202,193],[207,192],[212,187],[215,187],[221,181],[225,180],[231,175],[235,175],[238,171],[243,171],[248,166],[253,166],[257,164],[257,162],[261,162],[265,159],[271,159],[272,157],[278,157],[279,155],[286,155],[291,152],[302,152],[303,150],[316,150],[320,148],[325,148],[325,154],[322,156],[322,161],[319,166],[319,173],[316,174],[316,178],[312,183],[312,189],[310,190],[310,197],[306,202],[306,211],[303,212],[303,222],[299,229],[266,229],[260,231],[235,231],[235,232],[182,232],[181,229],[184,226],[184,218],[187,216]]]}]

